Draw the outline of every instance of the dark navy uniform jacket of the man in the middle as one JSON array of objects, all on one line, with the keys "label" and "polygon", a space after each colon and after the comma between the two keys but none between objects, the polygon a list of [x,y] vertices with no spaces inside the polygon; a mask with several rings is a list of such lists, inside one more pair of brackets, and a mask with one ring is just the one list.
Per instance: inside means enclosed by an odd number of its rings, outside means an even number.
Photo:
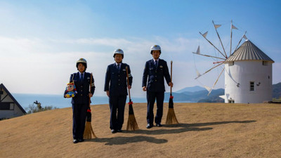
[{"label": "dark navy uniform jacket of the man in the middle", "polygon": [[110,96],[127,96],[127,74],[126,67],[128,67],[129,84],[131,86],[133,77],[129,65],[122,62],[118,72],[116,63],[107,66],[105,74],[105,88],[104,91],[110,91]]}]

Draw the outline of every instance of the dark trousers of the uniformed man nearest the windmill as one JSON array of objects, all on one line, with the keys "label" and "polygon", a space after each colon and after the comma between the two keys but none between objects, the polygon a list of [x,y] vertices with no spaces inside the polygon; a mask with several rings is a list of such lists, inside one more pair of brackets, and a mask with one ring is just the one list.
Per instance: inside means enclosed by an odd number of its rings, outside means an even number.
[{"label": "dark trousers of the uniformed man nearest the windmill", "polygon": [[153,107],[154,107],[155,99],[157,103],[155,123],[160,124],[163,116],[164,91],[160,91],[160,92],[147,91],[146,99],[148,100],[148,113],[146,115],[148,124],[153,124],[153,119],[154,119]]}]

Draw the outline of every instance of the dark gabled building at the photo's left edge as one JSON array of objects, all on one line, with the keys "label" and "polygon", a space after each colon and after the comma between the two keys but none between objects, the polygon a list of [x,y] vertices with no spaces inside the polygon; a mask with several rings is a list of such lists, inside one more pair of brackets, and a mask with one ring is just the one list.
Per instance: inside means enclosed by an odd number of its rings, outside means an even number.
[{"label": "dark gabled building at the photo's left edge", "polygon": [[0,84],[0,120],[20,117],[26,114],[4,84]]}]

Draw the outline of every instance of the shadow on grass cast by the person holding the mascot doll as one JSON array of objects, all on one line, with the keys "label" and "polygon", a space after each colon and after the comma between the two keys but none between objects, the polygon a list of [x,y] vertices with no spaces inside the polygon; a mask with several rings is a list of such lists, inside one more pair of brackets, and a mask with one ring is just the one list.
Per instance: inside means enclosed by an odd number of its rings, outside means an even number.
[{"label": "shadow on grass cast by the person holding the mascot doll", "polygon": [[155,144],[167,143],[166,139],[157,139],[148,136],[133,136],[133,137],[113,137],[113,138],[95,138],[86,140],[91,142],[105,143],[105,145],[124,145],[128,143],[148,142]]}]

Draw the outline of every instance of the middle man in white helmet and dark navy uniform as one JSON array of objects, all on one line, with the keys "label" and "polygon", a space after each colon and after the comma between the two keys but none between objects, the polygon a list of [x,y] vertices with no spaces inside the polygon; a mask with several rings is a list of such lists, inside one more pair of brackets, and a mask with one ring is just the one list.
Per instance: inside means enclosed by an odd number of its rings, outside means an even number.
[{"label": "middle man in white helmet and dark navy uniform", "polygon": [[[112,133],[122,132],[124,110],[128,95],[127,87],[131,89],[133,77],[129,65],[123,63],[124,52],[117,49],[113,53],[115,63],[108,65],[105,74],[105,88],[110,105],[110,129]],[[127,85],[126,67],[128,67],[129,85]]]}]

